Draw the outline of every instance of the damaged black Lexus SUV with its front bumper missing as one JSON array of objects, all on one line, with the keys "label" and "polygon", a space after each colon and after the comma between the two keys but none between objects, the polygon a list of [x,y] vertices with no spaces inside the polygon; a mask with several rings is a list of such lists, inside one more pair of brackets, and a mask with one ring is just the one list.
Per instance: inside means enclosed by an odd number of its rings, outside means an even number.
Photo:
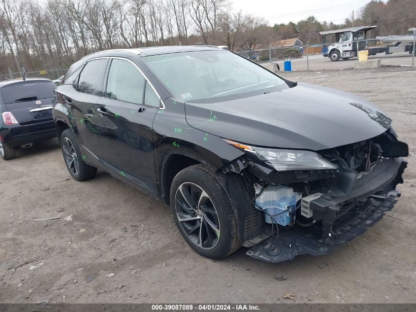
[{"label": "damaged black Lexus SUV with its front bumper missing", "polygon": [[327,253],[393,207],[406,168],[374,104],[213,46],[94,53],[56,97],[72,177],[100,168],[160,198],[210,258]]}]

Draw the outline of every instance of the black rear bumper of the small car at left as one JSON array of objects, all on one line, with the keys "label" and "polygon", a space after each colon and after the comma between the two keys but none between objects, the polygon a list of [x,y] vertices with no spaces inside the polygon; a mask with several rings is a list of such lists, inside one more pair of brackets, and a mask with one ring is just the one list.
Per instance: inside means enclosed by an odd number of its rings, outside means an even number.
[{"label": "black rear bumper of the small car at left", "polygon": [[31,125],[3,125],[0,135],[9,146],[18,147],[24,143],[53,139],[57,134],[55,124],[51,120]]}]

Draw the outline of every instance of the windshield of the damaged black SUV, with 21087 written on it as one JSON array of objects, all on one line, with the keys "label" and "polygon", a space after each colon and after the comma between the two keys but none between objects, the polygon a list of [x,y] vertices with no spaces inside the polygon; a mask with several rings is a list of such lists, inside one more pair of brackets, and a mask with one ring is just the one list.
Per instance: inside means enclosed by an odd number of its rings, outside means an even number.
[{"label": "windshield of the damaged black SUV, with 21087 written on it", "polygon": [[174,98],[187,102],[288,89],[282,78],[224,50],[160,54],[143,60]]}]

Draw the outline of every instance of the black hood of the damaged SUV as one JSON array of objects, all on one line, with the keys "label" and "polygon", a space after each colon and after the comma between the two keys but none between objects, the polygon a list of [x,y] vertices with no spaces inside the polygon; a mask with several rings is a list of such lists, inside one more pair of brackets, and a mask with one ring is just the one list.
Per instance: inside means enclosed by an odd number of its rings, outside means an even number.
[{"label": "black hood of the damaged SUV", "polygon": [[257,146],[321,150],[376,137],[391,119],[361,97],[307,83],[218,102],[185,103],[188,124]]}]

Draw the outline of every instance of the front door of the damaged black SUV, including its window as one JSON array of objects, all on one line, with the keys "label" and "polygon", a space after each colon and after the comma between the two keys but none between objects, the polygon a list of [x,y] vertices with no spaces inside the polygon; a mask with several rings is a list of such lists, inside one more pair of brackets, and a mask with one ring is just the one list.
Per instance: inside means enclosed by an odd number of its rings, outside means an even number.
[{"label": "front door of the damaged black SUV, including its window", "polygon": [[102,117],[99,139],[103,160],[111,170],[157,194],[152,125],[160,100],[146,84],[132,61],[111,58],[105,97],[97,103]]}]

